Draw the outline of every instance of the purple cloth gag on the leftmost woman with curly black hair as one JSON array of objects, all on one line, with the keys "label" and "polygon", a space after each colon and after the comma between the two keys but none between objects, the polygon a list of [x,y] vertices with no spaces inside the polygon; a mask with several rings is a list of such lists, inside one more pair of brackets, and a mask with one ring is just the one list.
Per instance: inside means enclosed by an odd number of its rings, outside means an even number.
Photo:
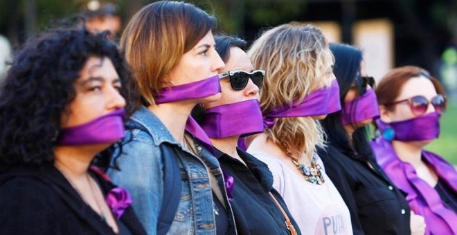
[{"label": "purple cloth gag on the leftmost woman with curly black hair", "polygon": [[104,144],[124,138],[124,109],[117,109],[90,122],[61,130],[59,145]]}]

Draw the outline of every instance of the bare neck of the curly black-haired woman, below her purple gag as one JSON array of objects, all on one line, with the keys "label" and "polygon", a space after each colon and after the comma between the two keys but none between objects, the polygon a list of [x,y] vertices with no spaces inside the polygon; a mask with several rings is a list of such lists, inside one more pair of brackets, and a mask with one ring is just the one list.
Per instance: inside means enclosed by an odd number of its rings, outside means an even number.
[{"label": "bare neck of the curly black-haired woman, below her purple gag", "polygon": [[74,178],[86,177],[87,170],[100,147],[59,146],[54,148],[54,165]]}]

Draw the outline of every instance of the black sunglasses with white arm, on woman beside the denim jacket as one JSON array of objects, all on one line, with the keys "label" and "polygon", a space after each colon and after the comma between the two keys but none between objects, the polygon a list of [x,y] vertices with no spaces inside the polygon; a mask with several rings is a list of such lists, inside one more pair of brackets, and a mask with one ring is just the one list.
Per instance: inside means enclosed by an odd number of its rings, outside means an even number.
[{"label": "black sunglasses with white arm, on woman beside the denim jacket", "polygon": [[219,73],[219,79],[223,79],[225,77],[230,78],[230,85],[232,86],[233,90],[236,91],[241,91],[242,89],[244,89],[249,82],[249,78],[252,80],[254,84],[256,84],[256,86],[258,86],[258,88],[262,88],[264,76],[265,71],[262,71],[260,69],[252,71],[251,73],[242,70],[234,70]]}]

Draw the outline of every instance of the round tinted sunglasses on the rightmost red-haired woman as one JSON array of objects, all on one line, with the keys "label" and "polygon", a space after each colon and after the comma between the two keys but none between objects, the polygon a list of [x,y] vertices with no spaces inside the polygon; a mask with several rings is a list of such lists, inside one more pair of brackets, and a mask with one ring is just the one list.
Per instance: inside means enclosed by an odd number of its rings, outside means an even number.
[{"label": "round tinted sunglasses on the rightmost red-haired woman", "polygon": [[447,106],[447,98],[441,94],[438,94],[435,97],[431,98],[430,101],[422,95],[416,95],[409,99],[398,100],[386,105],[400,104],[403,102],[407,102],[409,104],[409,108],[415,115],[422,115],[425,112],[427,112],[429,104],[433,105],[433,108],[435,108],[435,111],[437,113],[444,113],[446,111]]}]

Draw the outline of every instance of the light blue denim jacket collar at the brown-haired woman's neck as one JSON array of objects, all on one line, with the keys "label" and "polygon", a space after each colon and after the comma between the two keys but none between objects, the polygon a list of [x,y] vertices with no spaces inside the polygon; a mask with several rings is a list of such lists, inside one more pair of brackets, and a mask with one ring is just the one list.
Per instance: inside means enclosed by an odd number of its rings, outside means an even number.
[{"label": "light blue denim jacket collar at the brown-haired woman's neck", "polygon": [[[141,106],[141,108],[132,115],[131,119],[134,120],[134,122],[141,124],[141,126],[150,133],[156,146],[159,146],[163,142],[179,145],[179,142],[173,137],[170,131],[168,131],[163,122],[145,106]],[[152,128],[154,130],[152,130]]]}]

